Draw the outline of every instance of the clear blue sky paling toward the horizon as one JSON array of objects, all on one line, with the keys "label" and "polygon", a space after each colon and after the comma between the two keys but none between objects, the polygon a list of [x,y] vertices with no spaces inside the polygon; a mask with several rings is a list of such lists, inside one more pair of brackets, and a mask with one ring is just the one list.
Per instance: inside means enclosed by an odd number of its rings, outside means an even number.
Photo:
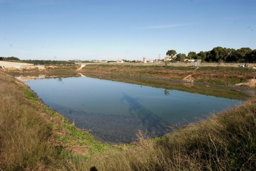
[{"label": "clear blue sky paling toward the horizon", "polygon": [[0,0],[0,56],[148,60],[256,49],[256,0]]}]

